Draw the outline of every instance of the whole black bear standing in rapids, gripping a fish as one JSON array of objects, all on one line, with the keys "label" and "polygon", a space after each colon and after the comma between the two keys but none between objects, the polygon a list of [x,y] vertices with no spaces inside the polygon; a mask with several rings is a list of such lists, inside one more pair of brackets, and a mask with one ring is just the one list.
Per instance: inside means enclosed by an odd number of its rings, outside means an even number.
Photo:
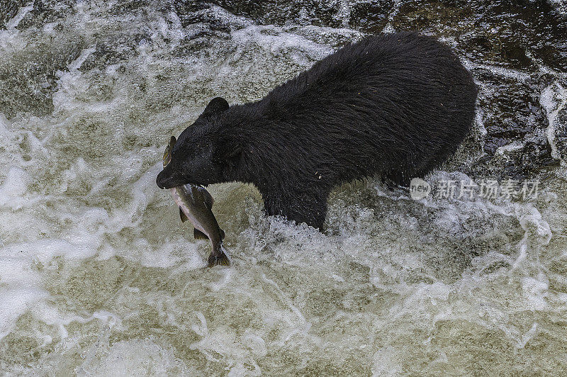
[{"label": "whole black bear standing in rapids, gripping a fish", "polygon": [[342,47],[264,99],[208,103],[179,136],[157,185],[254,184],[268,215],[322,230],[337,184],[408,185],[471,129],[477,87],[447,45],[417,33]]}]

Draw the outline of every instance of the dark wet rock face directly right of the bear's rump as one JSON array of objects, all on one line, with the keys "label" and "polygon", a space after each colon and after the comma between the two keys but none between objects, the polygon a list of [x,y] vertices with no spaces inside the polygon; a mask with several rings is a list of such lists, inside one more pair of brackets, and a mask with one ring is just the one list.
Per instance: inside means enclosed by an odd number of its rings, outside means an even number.
[{"label": "dark wet rock face directly right of the bear's rump", "polygon": [[469,172],[524,179],[556,166],[546,137],[549,123],[539,103],[539,78],[506,77],[488,69],[476,69],[473,74],[481,81],[478,107],[484,115],[485,135],[484,155]]}]

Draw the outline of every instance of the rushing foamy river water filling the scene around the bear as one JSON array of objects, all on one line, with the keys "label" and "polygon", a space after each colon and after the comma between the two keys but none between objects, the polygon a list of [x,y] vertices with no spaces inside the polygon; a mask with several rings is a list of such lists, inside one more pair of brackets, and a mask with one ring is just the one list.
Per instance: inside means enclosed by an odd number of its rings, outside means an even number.
[{"label": "rushing foamy river water filling the scene around the bear", "polygon": [[[0,373],[567,373],[567,4],[0,0]],[[204,269],[155,185],[208,100],[262,98],[366,33],[420,30],[479,87],[426,179],[539,181],[427,198],[379,179],[327,231],[212,186],[230,268]]]}]

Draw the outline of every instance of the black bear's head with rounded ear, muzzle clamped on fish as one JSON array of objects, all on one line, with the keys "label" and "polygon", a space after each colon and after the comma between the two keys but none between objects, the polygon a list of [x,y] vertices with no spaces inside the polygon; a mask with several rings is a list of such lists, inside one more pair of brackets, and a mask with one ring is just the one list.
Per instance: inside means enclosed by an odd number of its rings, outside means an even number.
[{"label": "black bear's head with rounded ear, muzzle clamped on fish", "polygon": [[241,148],[234,137],[228,139],[224,129],[228,102],[212,99],[195,123],[186,128],[172,148],[171,161],[157,175],[160,188],[184,184],[206,186],[232,181],[230,168],[240,157]]}]

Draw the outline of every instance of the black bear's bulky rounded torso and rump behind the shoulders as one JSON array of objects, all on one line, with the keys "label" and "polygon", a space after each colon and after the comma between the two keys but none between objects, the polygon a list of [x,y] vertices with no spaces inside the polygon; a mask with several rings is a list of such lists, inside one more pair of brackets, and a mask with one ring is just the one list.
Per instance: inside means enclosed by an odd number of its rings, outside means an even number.
[{"label": "black bear's bulky rounded torso and rump behind the shoulders", "polygon": [[277,137],[308,151],[314,166],[325,160],[347,181],[395,167],[406,171],[393,177],[402,183],[456,150],[473,123],[476,94],[449,47],[394,33],[337,50],[260,103],[278,119]]}]

